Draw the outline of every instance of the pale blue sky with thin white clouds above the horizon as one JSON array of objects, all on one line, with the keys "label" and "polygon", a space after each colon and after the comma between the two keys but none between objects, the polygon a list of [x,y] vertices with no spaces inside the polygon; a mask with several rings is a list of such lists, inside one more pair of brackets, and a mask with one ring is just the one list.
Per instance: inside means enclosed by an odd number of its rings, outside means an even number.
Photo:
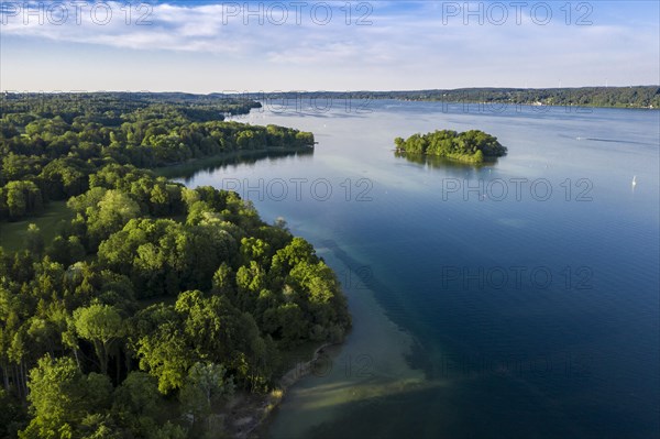
[{"label": "pale blue sky with thin white clouds above the horizon", "polygon": [[2,0],[0,90],[659,85],[659,4]]}]

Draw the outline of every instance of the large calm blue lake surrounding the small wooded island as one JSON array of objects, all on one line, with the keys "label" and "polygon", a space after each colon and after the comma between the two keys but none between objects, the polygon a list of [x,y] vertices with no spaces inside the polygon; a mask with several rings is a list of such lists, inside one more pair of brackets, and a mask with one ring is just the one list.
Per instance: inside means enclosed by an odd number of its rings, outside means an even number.
[{"label": "large calm blue lake surrounding the small wooded island", "polygon": [[[314,103],[234,118],[312,131],[312,154],[179,179],[283,217],[349,296],[353,331],[270,437],[659,437],[659,111]],[[440,129],[508,155],[395,156]]]}]

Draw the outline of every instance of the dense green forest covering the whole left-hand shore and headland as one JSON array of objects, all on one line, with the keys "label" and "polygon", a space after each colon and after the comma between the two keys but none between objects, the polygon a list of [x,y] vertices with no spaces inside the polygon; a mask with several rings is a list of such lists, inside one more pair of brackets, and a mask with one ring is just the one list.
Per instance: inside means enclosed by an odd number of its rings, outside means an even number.
[{"label": "dense green forest covering the whole left-hand shore and headland", "polygon": [[185,99],[6,97],[3,218],[67,199],[73,219],[0,246],[0,437],[221,437],[235,392],[350,328],[334,273],[284,221],[144,168],[312,135],[219,120],[253,102]]}]

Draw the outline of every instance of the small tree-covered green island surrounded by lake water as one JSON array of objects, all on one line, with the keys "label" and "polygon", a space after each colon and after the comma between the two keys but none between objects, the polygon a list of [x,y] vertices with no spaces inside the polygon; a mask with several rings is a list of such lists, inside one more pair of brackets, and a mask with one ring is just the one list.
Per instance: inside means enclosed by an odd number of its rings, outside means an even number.
[{"label": "small tree-covered green island surrounded by lake water", "polygon": [[501,157],[507,152],[497,138],[480,130],[462,133],[442,130],[427,134],[413,134],[406,140],[396,138],[394,143],[397,154],[426,154],[477,164]]}]

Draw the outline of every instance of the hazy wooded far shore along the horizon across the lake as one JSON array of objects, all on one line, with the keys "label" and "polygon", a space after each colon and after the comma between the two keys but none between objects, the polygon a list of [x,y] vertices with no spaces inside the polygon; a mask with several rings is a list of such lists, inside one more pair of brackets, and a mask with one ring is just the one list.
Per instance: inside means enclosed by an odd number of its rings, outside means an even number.
[{"label": "hazy wooded far shore along the horizon across the lake", "polygon": [[[292,91],[271,94],[246,94],[245,97],[260,99],[266,106],[287,107],[309,103],[312,108],[323,109],[326,99],[336,100],[334,108],[345,106],[352,111],[369,109],[372,99],[402,99],[441,102],[479,102],[491,105],[544,105],[616,108],[660,108],[660,87],[581,87],[581,88],[459,88],[409,91]],[[351,101],[351,103],[346,103]],[[491,111],[499,107],[491,108]]]}]

